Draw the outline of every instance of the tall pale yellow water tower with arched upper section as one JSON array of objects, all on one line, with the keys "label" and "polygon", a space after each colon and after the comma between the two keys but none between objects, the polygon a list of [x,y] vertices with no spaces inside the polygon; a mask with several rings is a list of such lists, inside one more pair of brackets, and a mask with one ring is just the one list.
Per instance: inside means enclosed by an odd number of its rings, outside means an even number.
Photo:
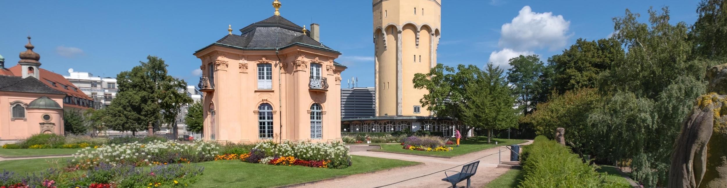
[{"label": "tall pale yellow water tower with arched upper section", "polygon": [[374,0],[376,115],[430,115],[415,73],[437,65],[441,0]]}]

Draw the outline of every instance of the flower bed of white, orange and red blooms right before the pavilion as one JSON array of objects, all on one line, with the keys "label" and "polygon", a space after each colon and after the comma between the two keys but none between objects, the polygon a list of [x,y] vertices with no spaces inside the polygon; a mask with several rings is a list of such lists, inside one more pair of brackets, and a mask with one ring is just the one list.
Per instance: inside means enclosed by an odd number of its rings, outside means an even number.
[{"label": "flower bed of white, orange and red blooms right before the pavilion", "polygon": [[342,142],[262,142],[249,153],[217,155],[214,160],[242,160],[268,165],[303,165],[316,168],[346,168],[351,165],[348,147]]}]

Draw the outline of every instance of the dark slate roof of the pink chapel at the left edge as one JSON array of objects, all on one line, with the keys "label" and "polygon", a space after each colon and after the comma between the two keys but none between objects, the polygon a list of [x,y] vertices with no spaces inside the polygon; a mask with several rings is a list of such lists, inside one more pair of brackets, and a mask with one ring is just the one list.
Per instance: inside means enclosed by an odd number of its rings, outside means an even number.
[{"label": "dark slate roof of the pink chapel at the left edge", "polygon": [[21,78],[20,76],[0,75],[0,91],[15,91],[39,94],[65,94],[46,86],[36,78]]}]

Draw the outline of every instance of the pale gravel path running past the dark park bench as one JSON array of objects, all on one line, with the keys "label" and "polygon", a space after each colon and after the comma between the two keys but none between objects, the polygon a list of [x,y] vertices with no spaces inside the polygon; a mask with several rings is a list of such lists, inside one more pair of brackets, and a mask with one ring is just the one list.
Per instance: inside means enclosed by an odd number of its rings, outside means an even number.
[{"label": "pale gravel path running past the dark park bench", "polygon": [[[532,141],[523,143],[531,144]],[[521,144],[521,145],[523,145]],[[414,165],[405,168],[395,168],[389,171],[380,171],[377,173],[364,173],[352,176],[346,176],[339,179],[320,181],[313,184],[306,184],[300,187],[317,187],[317,188],[338,188],[338,187],[451,187],[446,181],[441,181],[445,177],[443,171],[459,171],[462,165],[470,163],[473,160],[480,160],[477,173],[473,176],[471,187],[483,187],[493,179],[505,173],[508,168],[497,168],[498,163],[498,147],[479,152],[472,152],[466,155],[460,155],[454,158],[431,158],[415,155],[403,155],[385,152],[367,152],[371,147],[368,145],[350,145],[351,155],[363,155],[376,158],[390,158],[398,160],[409,160],[424,163],[422,165]],[[510,152],[502,149],[502,159],[510,158]],[[451,168],[451,169],[450,169]],[[442,171],[442,172],[438,172]],[[432,173],[432,174],[430,174]],[[449,175],[452,172],[447,172]],[[427,175],[429,174],[429,175]],[[421,177],[419,177],[421,176]],[[467,182],[457,184],[458,186],[466,186]]]}]

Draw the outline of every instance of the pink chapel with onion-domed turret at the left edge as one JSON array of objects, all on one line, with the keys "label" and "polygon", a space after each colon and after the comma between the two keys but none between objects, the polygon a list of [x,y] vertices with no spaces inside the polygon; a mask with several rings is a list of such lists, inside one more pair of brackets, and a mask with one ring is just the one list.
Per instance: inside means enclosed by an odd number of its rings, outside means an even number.
[{"label": "pink chapel with onion-domed turret at the left edge", "polygon": [[20,61],[9,69],[0,56],[0,144],[17,142],[33,134],[64,132],[63,107],[68,94],[48,85],[52,79],[42,75],[49,71],[39,68],[40,54],[33,52],[33,48],[28,36]]}]

